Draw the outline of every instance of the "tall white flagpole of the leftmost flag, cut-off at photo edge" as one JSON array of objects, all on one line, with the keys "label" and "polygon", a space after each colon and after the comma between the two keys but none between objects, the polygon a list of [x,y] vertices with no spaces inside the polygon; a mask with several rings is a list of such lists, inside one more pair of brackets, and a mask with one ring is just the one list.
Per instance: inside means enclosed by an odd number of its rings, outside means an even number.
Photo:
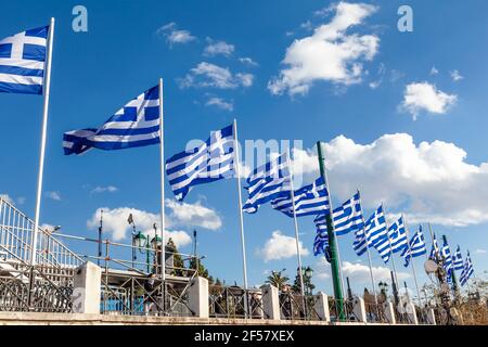
[{"label": "tall white flagpole of the leftmost flag, cut-off at photo edge", "polygon": [[39,215],[40,215],[40,204],[42,195],[42,178],[44,170],[44,154],[46,154],[46,140],[48,132],[48,111],[49,111],[49,95],[51,90],[51,59],[52,59],[52,44],[54,38],[54,18],[51,18],[51,24],[49,25],[49,36],[48,36],[48,54],[46,56],[46,78],[44,78],[44,104],[42,108],[42,130],[41,130],[41,143],[40,143],[40,155],[39,155],[39,171],[37,176],[37,194],[36,194],[36,213],[34,217],[34,232],[33,232],[33,244],[30,248],[30,265],[36,265],[36,253],[37,253],[37,241],[39,231]]}]

